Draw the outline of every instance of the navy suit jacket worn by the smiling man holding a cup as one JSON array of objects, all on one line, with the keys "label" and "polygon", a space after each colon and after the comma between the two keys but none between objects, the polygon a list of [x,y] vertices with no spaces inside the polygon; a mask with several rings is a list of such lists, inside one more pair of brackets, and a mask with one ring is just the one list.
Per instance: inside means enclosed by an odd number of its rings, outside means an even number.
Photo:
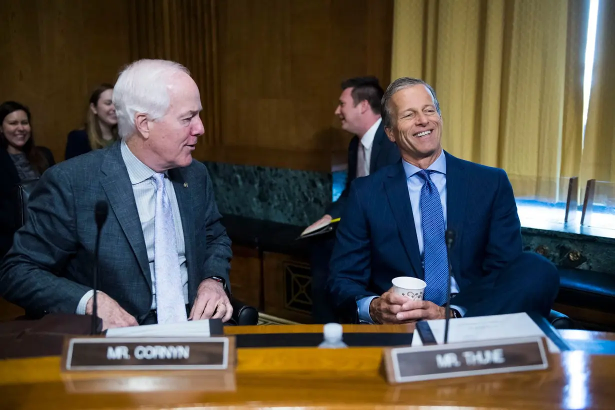
[{"label": "navy suit jacket worn by the smiling man holding a cup", "polygon": [[[522,254],[521,227],[504,170],[446,156],[447,228],[459,285],[457,306],[480,301],[493,285],[491,272]],[[352,183],[337,230],[327,288],[345,320],[356,320],[356,301],[381,295],[398,276],[424,278],[410,195],[402,162]]]}]

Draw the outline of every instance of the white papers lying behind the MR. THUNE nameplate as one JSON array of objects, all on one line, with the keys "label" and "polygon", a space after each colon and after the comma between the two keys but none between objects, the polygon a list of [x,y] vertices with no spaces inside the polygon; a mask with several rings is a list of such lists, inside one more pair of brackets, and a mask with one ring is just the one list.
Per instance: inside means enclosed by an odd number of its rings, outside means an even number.
[{"label": "white papers lying behind the MR. THUNE nameplate", "polygon": [[[437,344],[444,343],[445,320],[428,320]],[[509,313],[507,315],[462,317],[448,321],[448,342],[479,342],[498,339],[515,339],[517,337],[546,337],[549,352],[558,353],[560,349],[544,334],[527,313]],[[412,337],[411,346],[422,346],[418,333]]]}]

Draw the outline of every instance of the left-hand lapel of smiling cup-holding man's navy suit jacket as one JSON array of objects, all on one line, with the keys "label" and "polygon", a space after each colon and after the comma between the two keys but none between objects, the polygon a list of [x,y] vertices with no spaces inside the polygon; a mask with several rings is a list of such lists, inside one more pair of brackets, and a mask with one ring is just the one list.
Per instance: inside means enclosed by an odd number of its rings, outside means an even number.
[{"label": "left-hand lapel of smiling cup-holding man's navy suit jacket", "polygon": [[424,272],[421,267],[421,255],[416,239],[415,219],[412,213],[410,194],[408,194],[406,173],[403,171],[401,161],[391,168],[389,178],[384,181],[384,187],[412,268],[415,270],[416,277],[423,279]]}]

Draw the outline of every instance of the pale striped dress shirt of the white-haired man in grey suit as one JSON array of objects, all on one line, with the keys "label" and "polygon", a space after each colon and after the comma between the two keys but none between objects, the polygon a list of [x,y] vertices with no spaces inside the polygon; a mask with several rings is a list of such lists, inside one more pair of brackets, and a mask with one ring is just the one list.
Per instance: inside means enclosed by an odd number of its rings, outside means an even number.
[{"label": "pale striped dress shirt of the white-haired man in grey suit", "polygon": [[[152,306],[151,309],[156,309],[156,277],[154,276],[154,233],[155,224],[154,217],[156,216],[156,183],[152,176],[156,171],[143,164],[130,151],[125,141],[121,143],[122,159],[126,165],[130,183],[132,184],[132,192],[135,195],[137,203],[137,211],[141,221],[141,230],[143,231],[143,239],[145,239],[145,247],[148,252],[149,274],[152,281]],[[181,226],[180,207],[175,196],[175,188],[165,172],[164,178],[165,189],[169,195],[171,208],[173,210],[173,222],[175,223],[175,237],[177,238],[177,253],[180,259],[180,274],[181,284],[184,291],[184,300],[188,304],[188,267],[186,266],[186,243],[184,240],[184,230]],[[87,302],[92,298],[93,291],[90,290],[84,294],[79,305],[77,306],[77,314],[84,315]]]}]

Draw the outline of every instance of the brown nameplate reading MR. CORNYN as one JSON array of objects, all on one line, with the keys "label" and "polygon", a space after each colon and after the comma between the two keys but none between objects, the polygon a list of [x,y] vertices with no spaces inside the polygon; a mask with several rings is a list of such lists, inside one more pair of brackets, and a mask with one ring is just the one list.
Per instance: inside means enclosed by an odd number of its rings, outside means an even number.
[{"label": "brown nameplate reading MR. CORNYN", "polygon": [[81,337],[66,340],[63,370],[225,370],[234,337]]}]

